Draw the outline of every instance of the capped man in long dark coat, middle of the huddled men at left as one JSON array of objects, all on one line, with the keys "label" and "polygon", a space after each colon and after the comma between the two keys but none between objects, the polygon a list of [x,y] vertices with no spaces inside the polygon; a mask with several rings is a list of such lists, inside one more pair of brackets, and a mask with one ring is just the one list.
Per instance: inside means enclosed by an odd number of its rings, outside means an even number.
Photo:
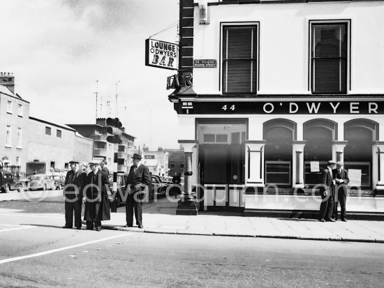
[{"label": "capped man in long dark coat, middle of the huddled men at left", "polygon": [[110,185],[108,175],[98,169],[97,162],[90,162],[91,172],[87,176],[85,192],[84,220],[87,230],[101,231],[101,221],[110,220],[110,204],[107,187]]}]

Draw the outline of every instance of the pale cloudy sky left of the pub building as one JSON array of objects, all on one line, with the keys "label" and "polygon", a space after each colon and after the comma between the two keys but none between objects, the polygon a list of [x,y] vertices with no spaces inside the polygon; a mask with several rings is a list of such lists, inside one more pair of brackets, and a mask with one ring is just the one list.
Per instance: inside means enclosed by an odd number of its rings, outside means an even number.
[{"label": "pale cloudy sky left of the pub building", "polygon": [[13,73],[30,116],[96,123],[95,92],[98,117],[115,117],[117,93],[136,146],[178,148],[166,90],[176,72],[145,66],[145,39],[176,43],[178,19],[178,0],[0,0],[0,71]]}]

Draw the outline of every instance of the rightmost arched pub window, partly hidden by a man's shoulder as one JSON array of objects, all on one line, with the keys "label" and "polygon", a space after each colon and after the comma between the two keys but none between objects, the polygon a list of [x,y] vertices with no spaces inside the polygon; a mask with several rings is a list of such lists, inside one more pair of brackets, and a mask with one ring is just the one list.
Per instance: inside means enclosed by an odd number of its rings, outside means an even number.
[{"label": "rightmost arched pub window, partly hidden by a man's shoulder", "polygon": [[360,170],[362,188],[371,188],[372,142],[378,139],[378,123],[369,119],[348,121],[344,123],[344,139],[348,141],[344,148],[345,169]]}]

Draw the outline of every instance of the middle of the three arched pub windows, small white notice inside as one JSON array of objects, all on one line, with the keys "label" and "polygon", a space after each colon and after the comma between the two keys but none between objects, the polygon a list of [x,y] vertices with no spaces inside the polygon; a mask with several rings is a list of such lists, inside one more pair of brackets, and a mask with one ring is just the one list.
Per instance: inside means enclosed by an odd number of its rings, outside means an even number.
[{"label": "middle of the three arched pub windows, small white notice inside", "polygon": [[[337,140],[337,123],[328,119],[313,119],[304,123],[304,183],[316,185],[320,174],[332,159],[332,142]],[[311,165],[311,162],[315,165]],[[318,169],[316,169],[318,167]]]}]

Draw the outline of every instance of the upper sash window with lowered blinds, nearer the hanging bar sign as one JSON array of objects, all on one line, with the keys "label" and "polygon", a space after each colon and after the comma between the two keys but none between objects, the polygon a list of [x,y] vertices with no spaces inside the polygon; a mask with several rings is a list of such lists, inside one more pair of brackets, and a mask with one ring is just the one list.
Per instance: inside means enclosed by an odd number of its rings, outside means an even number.
[{"label": "upper sash window with lowered blinds, nearer the hanging bar sign", "polygon": [[223,93],[256,94],[257,26],[223,26]]}]

